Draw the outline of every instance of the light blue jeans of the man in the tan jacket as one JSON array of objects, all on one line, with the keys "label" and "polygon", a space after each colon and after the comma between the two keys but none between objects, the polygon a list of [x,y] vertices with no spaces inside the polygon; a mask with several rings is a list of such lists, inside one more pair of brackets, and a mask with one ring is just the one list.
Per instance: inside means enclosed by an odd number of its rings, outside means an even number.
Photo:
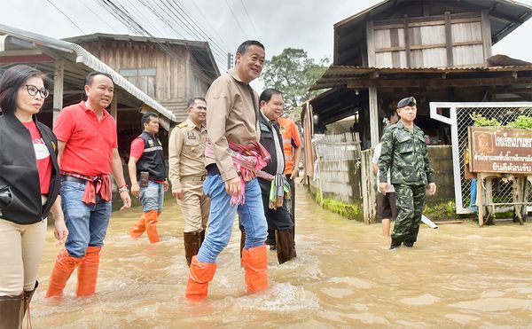
[{"label": "light blue jeans of the man in the tan jacket", "polygon": [[196,256],[200,262],[215,262],[231,239],[235,215],[246,231],[245,248],[263,246],[268,235],[268,224],[262,208],[261,187],[256,179],[246,183],[246,203],[231,206],[231,196],[225,192],[222,176],[207,176],[203,190],[211,200],[207,236]]}]

